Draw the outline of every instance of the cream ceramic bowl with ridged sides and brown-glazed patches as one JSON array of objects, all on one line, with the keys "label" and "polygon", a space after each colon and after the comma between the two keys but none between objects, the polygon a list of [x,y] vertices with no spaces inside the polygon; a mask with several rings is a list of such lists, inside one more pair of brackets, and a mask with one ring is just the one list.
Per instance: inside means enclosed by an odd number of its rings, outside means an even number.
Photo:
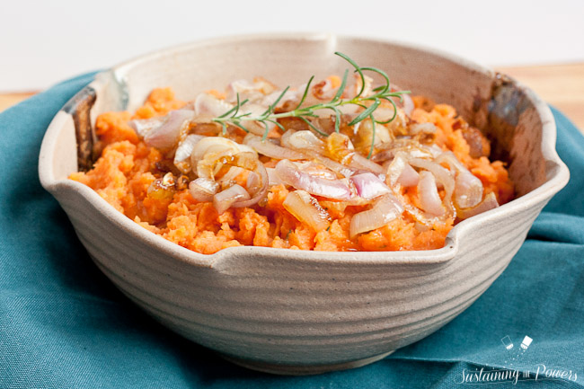
[{"label": "cream ceramic bowl with ridged sides and brown-glazed patches", "polygon": [[[235,247],[190,252],[151,234],[90,188],[67,180],[93,163],[93,123],[133,111],[158,86],[177,97],[256,75],[279,85],[341,74],[344,52],[392,81],[447,102],[509,163],[517,199],[455,226],[421,252],[303,252]],[[156,320],[245,367],[314,374],[384,358],[453,320],[505,270],[535,217],[569,178],[547,105],[504,75],[434,50],[327,34],[199,41],[115,66],[58,112],[40,181],[97,266]]]}]

